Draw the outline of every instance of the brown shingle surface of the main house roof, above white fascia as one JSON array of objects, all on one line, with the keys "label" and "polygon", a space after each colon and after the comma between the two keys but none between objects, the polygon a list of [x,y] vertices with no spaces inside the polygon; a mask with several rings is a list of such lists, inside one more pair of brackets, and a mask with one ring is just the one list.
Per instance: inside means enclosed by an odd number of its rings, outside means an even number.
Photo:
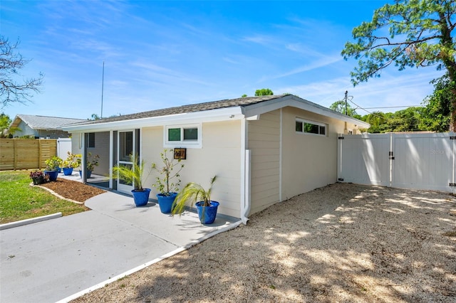
[{"label": "brown shingle surface of the main house roof, above white fascia", "polygon": [[149,117],[161,117],[167,115],[177,115],[183,114],[186,112],[202,112],[205,110],[217,110],[224,107],[236,107],[236,106],[246,106],[252,105],[259,102],[279,99],[284,97],[284,95],[268,95],[268,96],[259,96],[259,97],[239,97],[237,99],[226,99],[212,102],[204,102],[192,105],[182,105],[178,107],[169,107],[162,110],[150,110],[148,112],[138,112],[131,115],[122,115],[117,117],[109,117],[104,119],[98,119],[93,121],[85,121],[84,124],[98,124],[105,122],[115,122],[115,121],[125,121],[131,119],[141,119]]}]

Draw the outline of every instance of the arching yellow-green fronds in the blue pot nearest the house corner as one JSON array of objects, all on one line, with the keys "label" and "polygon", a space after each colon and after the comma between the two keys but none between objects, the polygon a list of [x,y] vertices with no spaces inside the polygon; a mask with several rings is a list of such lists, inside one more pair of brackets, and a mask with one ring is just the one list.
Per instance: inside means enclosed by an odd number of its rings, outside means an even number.
[{"label": "arching yellow-green fronds in the blue pot nearest the house corner", "polygon": [[211,178],[209,188],[207,188],[207,190],[195,182],[187,184],[177,195],[174,201],[172,213],[176,214],[185,211],[185,205],[187,202],[193,206],[196,202],[202,201],[202,206],[210,206],[212,186],[214,185],[215,180],[217,180],[217,176],[213,176]]}]

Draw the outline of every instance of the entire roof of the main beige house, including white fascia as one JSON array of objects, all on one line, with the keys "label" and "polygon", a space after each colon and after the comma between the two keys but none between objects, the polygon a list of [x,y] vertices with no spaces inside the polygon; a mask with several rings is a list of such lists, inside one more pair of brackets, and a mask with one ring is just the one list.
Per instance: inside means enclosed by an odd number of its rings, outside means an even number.
[{"label": "entire roof of the main beige house, including white fascia", "polygon": [[294,95],[267,95],[259,97],[239,97],[236,99],[204,102],[179,107],[169,107],[162,110],[138,112],[130,115],[121,115],[98,120],[88,120],[78,124],[66,125],[63,129],[88,130],[112,129],[113,127],[135,127],[138,125],[159,125],[163,123],[182,123],[199,121],[220,121],[227,119],[240,119],[241,117],[254,118],[264,112],[276,110],[286,106],[298,107],[309,112],[326,115],[346,122],[358,124],[369,128],[370,124],[353,117],[348,117],[339,112],[329,110],[314,102],[304,100]]}]

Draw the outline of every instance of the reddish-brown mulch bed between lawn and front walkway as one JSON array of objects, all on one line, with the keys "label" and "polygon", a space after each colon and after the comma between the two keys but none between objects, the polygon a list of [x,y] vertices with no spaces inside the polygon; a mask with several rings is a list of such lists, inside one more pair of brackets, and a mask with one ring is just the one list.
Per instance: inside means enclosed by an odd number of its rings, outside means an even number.
[{"label": "reddish-brown mulch bed between lawn and front walkway", "polygon": [[85,202],[89,198],[105,193],[103,189],[90,186],[77,181],[58,178],[57,181],[47,182],[41,186],[51,189],[64,198],[78,202]]}]

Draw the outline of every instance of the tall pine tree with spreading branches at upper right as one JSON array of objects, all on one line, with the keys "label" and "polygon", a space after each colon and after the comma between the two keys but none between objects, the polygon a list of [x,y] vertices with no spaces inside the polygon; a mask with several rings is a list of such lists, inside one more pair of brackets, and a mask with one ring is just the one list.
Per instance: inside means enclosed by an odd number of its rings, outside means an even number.
[{"label": "tall pine tree with spreading branches at upper right", "polygon": [[370,22],[353,29],[355,42],[342,50],[344,59],[355,58],[358,67],[351,72],[353,85],[380,77],[389,65],[436,66],[446,69],[450,80],[452,129],[456,129],[456,2],[453,0],[396,0],[373,13]]}]

